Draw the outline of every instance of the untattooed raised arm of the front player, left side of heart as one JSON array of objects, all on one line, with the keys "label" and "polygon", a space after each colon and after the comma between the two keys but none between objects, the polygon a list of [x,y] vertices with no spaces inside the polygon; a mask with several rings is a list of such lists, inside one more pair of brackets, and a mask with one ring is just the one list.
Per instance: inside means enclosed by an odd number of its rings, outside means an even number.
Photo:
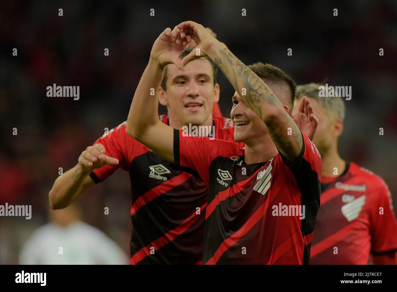
[{"label": "untattooed raised arm of the front player, left side of heart", "polygon": [[173,128],[158,120],[158,88],[165,66],[180,66],[178,56],[185,44],[177,44],[175,40],[167,28],[154,42],[148,66],[131,103],[126,128],[128,135],[170,162],[174,162]]}]

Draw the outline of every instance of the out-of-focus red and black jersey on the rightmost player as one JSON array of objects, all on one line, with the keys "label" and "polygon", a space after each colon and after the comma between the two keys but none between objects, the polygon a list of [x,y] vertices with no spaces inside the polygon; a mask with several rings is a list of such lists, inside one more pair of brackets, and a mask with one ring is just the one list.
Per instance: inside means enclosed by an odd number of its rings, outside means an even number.
[{"label": "out-of-focus red and black jersey on the rightmost player", "polygon": [[397,251],[397,222],[382,178],[351,162],[321,186],[310,264],[367,265],[370,253]]}]

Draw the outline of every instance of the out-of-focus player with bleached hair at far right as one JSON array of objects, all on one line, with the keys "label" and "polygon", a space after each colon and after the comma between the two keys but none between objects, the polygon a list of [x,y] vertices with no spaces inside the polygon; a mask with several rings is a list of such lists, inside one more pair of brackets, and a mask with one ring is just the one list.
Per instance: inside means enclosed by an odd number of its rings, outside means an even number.
[{"label": "out-of-focus player with bleached hair at far right", "polygon": [[[298,86],[319,118],[314,143],[322,156],[321,205],[310,264],[397,264],[397,222],[385,182],[338,153],[345,105],[341,97],[319,97],[322,84]],[[294,111],[297,108],[294,108]]]}]

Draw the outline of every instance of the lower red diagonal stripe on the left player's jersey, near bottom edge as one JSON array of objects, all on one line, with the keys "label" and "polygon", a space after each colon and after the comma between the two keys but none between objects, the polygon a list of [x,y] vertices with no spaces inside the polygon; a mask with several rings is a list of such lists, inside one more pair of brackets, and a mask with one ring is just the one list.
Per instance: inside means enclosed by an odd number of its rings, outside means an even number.
[{"label": "lower red diagonal stripe on the left player's jersey, near bottom edge", "polygon": [[[200,211],[203,211],[207,206],[207,203],[204,203],[200,207]],[[141,248],[139,251],[137,251],[132,257],[130,264],[135,265],[139,261],[142,261],[146,256],[150,255],[150,248],[154,247],[154,250],[158,250],[168,244],[169,242],[172,242],[175,237],[178,235],[182,234],[189,228],[199,217],[200,215],[197,215],[196,212],[190,215],[185,221],[183,221],[181,224],[179,224],[177,227],[175,227],[173,230],[168,231],[166,234],[163,236],[157,238],[144,248]]]}]

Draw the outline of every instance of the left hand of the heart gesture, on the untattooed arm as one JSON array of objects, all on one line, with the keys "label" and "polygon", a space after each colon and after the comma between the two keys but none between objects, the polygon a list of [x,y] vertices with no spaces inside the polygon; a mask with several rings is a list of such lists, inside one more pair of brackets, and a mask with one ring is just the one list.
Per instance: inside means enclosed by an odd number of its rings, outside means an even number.
[{"label": "left hand of the heart gesture, on the untattooed arm", "polygon": [[152,51],[150,52],[150,58],[162,67],[168,64],[175,64],[180,68],[181,60],[179,59],[179,55],[183,52],[188,43],[186,40],[179,43],[177,42],[177,37],[179,37],[179,39],[181,39],[181,37],[183,37],[183,39],[185,38],[182,32],[180,35],[175,35],[175,37],[171,32],[171,29],[168,27],[156,39],[152,46]]}]

